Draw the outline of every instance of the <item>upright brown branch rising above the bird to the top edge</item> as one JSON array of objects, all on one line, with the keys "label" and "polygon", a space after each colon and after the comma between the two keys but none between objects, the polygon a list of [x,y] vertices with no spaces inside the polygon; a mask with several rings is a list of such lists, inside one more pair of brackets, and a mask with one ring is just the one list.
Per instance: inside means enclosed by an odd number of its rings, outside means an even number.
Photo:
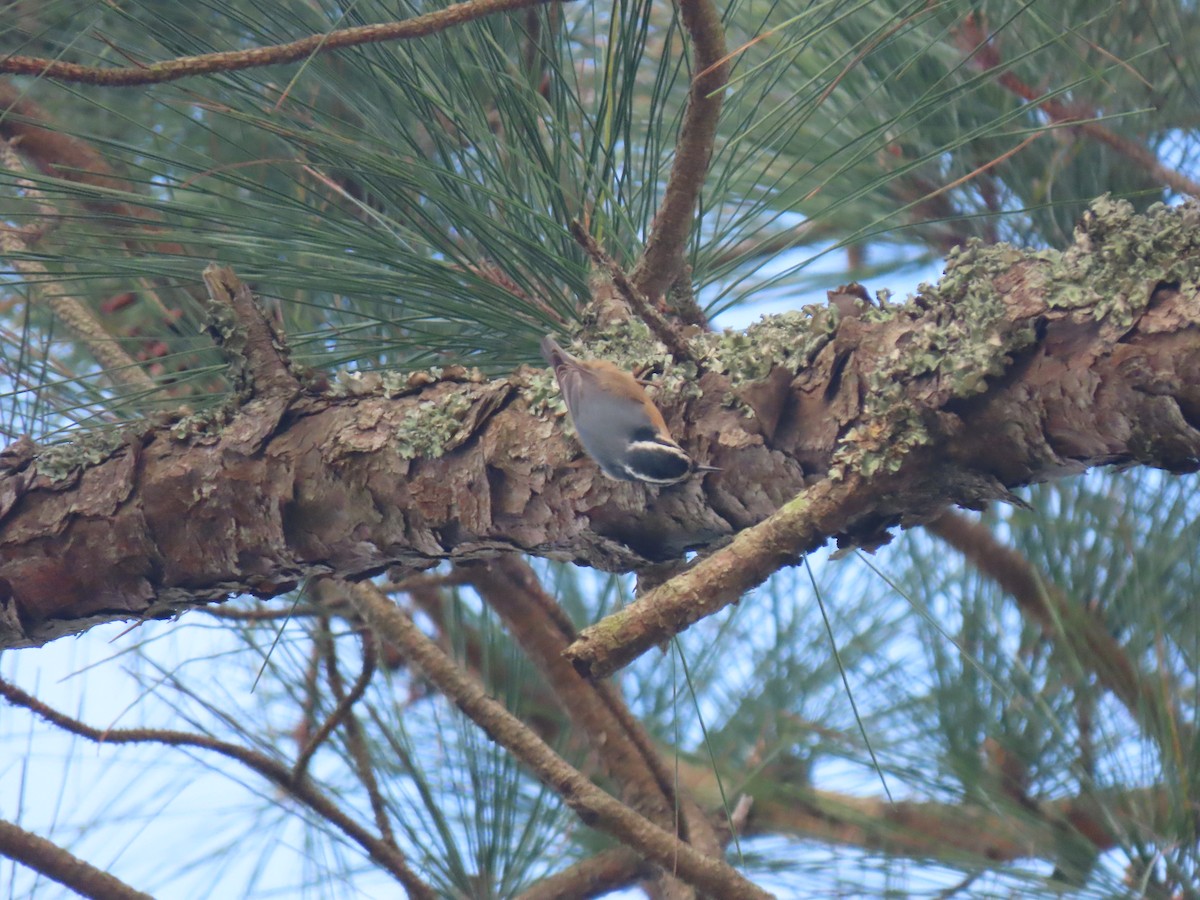
[{"label": "upright brown branch rising above the bird to the top edge", "polygon": [[708,176],[716,139],[730,64],[725,60],[725,29],[710,0],[679,0],[679,13],[691,38],[695,59],[688,107],[676,142],[674,162],[646,239],[642,258],[630,280],[649,298],[659,298],[676,280],[696,215],[696,199]]}]

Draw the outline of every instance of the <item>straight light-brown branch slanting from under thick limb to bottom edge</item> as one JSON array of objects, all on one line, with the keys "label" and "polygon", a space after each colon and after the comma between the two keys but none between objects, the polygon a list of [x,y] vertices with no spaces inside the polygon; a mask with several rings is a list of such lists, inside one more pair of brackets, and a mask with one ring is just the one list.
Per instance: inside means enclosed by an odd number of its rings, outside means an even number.
[{"label": "straight light-brown branch slanting from under thick limb to bottom edge", "polygon": [[478,680],[458,668],[372,584],[356,584],[353,596],[367,622],[385,640],[401,647],[412,666],[424,672],[492,740],[556,791],[583,822],[617,838],[682,881],[713,896],[728,900],[770,896],[724,860],[700,853],[593,785],[520,719],[488,697]]}]

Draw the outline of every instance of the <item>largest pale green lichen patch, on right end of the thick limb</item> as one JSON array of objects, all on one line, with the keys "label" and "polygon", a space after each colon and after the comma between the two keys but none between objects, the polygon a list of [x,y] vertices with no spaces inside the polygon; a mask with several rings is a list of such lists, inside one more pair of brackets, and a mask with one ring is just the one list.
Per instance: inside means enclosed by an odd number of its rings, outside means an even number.
[{"label": "largest pale green lichen patch, on right end of the thick limb", "polygon": [[953,251],[936,287],[922,284],[905,306],[876,312],[919,322],[868,377],[860,424],[844,436],[830,474],[894,472],[931,439],[910,395],[914,380],[936,379],[942,403],[970,397],[986,390],[988,380],[1037,340],[1033,323],[1012,326],[997,276],[1024,263],[1025,292],[1050,308],[1091,307],[1098,322],[1124,330],[1157,283],[1188,281],[1184,271],[1194,268],[1189,257],[1200,246],[1198,217],[1198,211],[1180,215],[1162,205],[1136,216],[1128,203],[1104,197],[1092,204],[1066,252],[979,241]]}]

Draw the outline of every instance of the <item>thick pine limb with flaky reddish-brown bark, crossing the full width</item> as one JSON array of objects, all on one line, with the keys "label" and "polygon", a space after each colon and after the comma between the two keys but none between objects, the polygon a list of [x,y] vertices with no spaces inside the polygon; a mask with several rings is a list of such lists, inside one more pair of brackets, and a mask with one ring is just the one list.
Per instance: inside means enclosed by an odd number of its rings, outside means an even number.
[{"label": "thick pine limb with flaky reddish-brown bark, crossing the full width", "polygon": [[[1200,466],[1200,208],[1100,200],[1064,252],[971,246],[904,306],[862,301],[594,355],[658,362],[673,433],[722,472],[605,479],[547,372],[462,370],[241,406],[0,455],[0,647],[169,616],[305,575],[528,552],[610,570],[713,546],[806,484],[880,479],[839,536],[1097,464]],[[587,352],[584,352],[587,353]],[[882,490],[886,486],[886,490]]]}]

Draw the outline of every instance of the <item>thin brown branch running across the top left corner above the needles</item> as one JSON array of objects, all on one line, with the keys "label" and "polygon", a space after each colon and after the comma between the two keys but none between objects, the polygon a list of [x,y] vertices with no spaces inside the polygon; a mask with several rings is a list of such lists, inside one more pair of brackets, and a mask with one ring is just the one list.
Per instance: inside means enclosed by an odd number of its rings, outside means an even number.
[{"label": "thin brown branch running across the top left corner above the needles", "polygon": [[469,2],[454,4],[444,10],[415,16],[401,22],[340,29],[320,35],[310,35],[299,41],[276,44],[274,47],[206,53],[202,56],[181,56],[179,59],[151,62],[145,66],[128,66],[126,68],[80,66],[74,62],[62,62],[61,60],[37,56],[7,56],[0,59],[0,73],[26,74],[56,82],[79,82],[107,88],[162,84],[163,82],[174,82],[179,78],[191,78],[212,72],[236,72],[245,68],[295,62],[344,47],[426,37],[427,35],[445,31],[497,12],[522,10],[528,6],[551,1],[470,0]]}]

